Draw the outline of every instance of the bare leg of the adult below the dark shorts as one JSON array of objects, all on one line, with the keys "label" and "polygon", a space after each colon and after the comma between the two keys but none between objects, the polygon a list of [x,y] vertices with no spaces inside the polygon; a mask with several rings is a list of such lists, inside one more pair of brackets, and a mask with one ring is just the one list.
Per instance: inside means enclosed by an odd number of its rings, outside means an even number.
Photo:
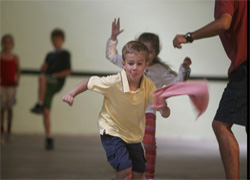
[{"label": "bare leg of the adult below the dark shorts", "polygon": [[231,131],[232,124],[213,121],[226,179],[239,179],[239,145]]}]

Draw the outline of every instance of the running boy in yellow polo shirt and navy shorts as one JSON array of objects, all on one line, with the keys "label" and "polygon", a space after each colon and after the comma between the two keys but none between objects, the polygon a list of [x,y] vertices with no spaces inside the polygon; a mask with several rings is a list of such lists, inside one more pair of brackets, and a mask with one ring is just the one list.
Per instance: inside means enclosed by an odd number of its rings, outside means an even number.
[{"label": "running boy in yellow polo shirt and navy shorts", "polygon": [[[115,171],[115,179],[143,179],[145,157],[141,145],[145,131],[145,110],[153,103],[154,83],[144,76],[148,66],[148,48],[130,41],[122,50],[123,70],[112,76],[91,77],[63,97],[73,104],[74,97],[87,89],[104,95],[99,114],[99,133],[107,159]],[[168,117],[170,109],[159,109]]]}]

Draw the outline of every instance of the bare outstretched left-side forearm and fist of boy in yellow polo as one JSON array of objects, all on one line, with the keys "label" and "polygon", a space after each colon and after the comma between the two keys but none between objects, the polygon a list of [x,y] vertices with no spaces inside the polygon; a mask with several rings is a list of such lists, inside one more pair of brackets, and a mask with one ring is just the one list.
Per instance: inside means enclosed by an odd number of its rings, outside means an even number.
[{"label": "bare outstretched left-side forearm and fist of boy in yellow polo", "polygon": [[64,95],[63,96],[63,102],[66,102],[70,106],[72,106],[75,96],[77,96],[78,94],[88,90],[88,87],[87,87],[88,81],[89,80],[85,80],[85,81],[81,82],[74,89],[72,89],[70,92],[68,92],[66,95]]}]

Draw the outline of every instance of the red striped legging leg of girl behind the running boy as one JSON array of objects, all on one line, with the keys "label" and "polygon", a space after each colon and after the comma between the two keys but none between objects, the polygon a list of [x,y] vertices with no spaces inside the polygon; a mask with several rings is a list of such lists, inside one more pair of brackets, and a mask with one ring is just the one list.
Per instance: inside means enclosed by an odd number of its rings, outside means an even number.
[{"label": "red striped legging leg of girl behind the running boy", "polygon": [[153,113],[146,113],[146,129],[143,144],[146,155],[146,178],[154,179],[155,160],[156,160],[156,139],[155,139],[155,120]]}]

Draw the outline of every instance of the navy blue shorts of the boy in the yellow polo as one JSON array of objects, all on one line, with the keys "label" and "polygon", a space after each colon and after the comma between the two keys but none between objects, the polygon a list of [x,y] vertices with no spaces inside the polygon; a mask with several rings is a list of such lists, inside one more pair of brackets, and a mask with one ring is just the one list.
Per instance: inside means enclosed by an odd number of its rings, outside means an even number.
[{"label": "navy blue shorts of the boy in the yellow polo", "polygon": [[127,144],[121,138],[105,133],[101,135],[101,141],[108,162],[115,170],[122,171],[132,167],[134,172],[146,171],[146,159],[141,143]]}]

